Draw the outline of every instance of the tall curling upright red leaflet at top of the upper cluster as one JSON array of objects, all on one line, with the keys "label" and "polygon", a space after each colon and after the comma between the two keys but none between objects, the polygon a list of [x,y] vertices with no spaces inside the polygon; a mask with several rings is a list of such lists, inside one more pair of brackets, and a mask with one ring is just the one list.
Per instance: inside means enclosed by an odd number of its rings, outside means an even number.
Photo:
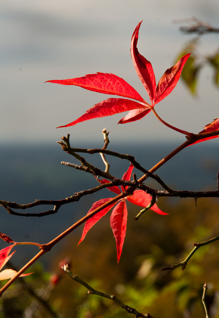
[{"label": "tall curling upright red leaflet at top of the upper cluster", "polygon": [[139,54],[137,49],[138,31],[139,31],[141,22],[137,25],[131,38],[131,57],[132,57],[133,64],[135,66],[135,70],[138,74],[138,77],[141,80],[142,84],[145,86],[145,89],[150,97],[150,100],[153,102],[154,93],[156,90],[156,81],[155,81],[154,71],[153,71],[151,62],[149,62],[147,59],[144,58],[144,56]]}]

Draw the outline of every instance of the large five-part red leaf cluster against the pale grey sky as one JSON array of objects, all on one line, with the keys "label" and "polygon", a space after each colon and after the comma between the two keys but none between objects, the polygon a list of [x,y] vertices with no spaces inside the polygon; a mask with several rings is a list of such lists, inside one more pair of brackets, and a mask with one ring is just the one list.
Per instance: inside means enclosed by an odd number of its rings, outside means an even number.
[{"label": "large five-part red leaf cluster against the pale grey sky", "polygon": [[69,127],[82,121],[110,116],[125,111],[129,111],[129,113],[123,117],[118,124],[137,121],[149,114],[155,104],[159,103],[172,92],[190,54],[186,54],[176,63],[175,66],[167,69],[156,87],[155,75],[151,62],[139,54],[137,49],[140,25],[141,22],[137,25],[131,38],[131,57],[138,77],[149,95],[151,105],[148,104],[124,79],[111,73],[88,74],[86,76],[73,79],[49,80],[47,82],[61,85],[75,85],[97,93],[131,98],[131,100],[122,98],[110,98],[108,100],[103,100],[101,103],[95,104],[94,107],[88,109],[86,113],[78,119],[57,128]]}]

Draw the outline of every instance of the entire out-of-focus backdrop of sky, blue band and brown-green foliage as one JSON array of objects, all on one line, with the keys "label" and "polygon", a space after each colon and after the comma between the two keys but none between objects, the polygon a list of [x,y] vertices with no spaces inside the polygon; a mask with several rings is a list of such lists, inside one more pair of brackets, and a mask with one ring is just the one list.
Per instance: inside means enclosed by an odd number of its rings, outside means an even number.
[{"label": "entire out-of-focus backdrop of sky, blue band and brown-green foliage", "polygon": [[[195,19],[186,20],[191,17],[218,28],[218,1],[0,2],[2,200],[19,204],[35,199],[56,200],[97,185],[93,176],[60,164],[78,164],[56,144],[67,133],[72,147],[102,148],[101,132],[106,127],[110,130],[108,149],[135,156],[145,169],[151,169],[185,141],[183,135],[163,126],[151,113],[125,125],[116,125],[125,115],[118,114],[55,129],[109,96],[76,86],[44,84],[46,80],[114,73],[149,100],[130,54],[131,36],[141,20],[138,50],[152,63],[157,83],[183,53],[193,52],[173,92],[156,105],[159,116],[194,133],[218,117],[218,33],[197,37],[197,33],[185,35],[179,30],[180,26],[197,23]],[[215,190],[218,157],[218,140],[203,142],[184,149],[157,174],[174,190]],[[98,154],[85,159],[105,169]],[[122,177],[129,162],[108,159],[111,174]],[[150,180],[147,185],[159,189]],[[1,207],[0,232],[15,241],[47,243],[84,216],[96,200],[111,196],[105,189],[43,218],[16,217]],[[66,257],[72,271],[92,287],[116,294],[127,305],[155,318],[205,317],[201,294],[207,282],[209,303],[213,302],[211,315],[217,317],[217,242],[199,249],[184,272],[181,268],[167,273],[159,269],[183,260],[194,242],[218,234],[218,199],[199,199],[196,208],[194,199],[161,198],[158,206],[171,215],[148,211],[138,222],[133,217],[139,209],[128,206],[127,234],[119,266],[110,214],[78,248],[82,227],[77,229],[34,265],[31,271],[35,274],[25,278],[28,287],[20,279],[8,289],[1,298],[0,317],[130,316],[109,300],[87,295],[84,287],[62,276],[59,263]],[[29,212],[47,208],[36,207]],[[0,248],[5,246],[5,242],[0,242]],[[16,250],[11,259],[14,269],[39,251],[25,245],[16,246]],[[48,300],[47,305],[39,305],[36,295]]]}]

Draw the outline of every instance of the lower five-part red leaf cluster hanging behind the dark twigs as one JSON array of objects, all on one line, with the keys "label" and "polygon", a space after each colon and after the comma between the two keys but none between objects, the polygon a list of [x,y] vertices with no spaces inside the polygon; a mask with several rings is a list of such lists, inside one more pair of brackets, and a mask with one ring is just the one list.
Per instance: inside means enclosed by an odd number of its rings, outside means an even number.
[{"label": "lower five-part red leaf cluster hanging behind the dark twigs", "polygon": [[[131,164],[130,167],[128,168],[128,170],[124,173],[123,178],[122,178],[123,180],[130,180],[133,168],[134,168],[134,166],[133,166],[133,164]],[[106,180],[106,179],[103,179],[103,180],[98,179],[98,182],[101,184],[110,183],[110,181]],[[128,186],[124,187],[121,185],[122,191],[126,190],[127,188],[128,188]],[[119,190],[119,187],[117,187],[117,186],[112,186],[112,187],[109,187],[107,189],[115,192],[116,194],[121,193],[121,191]],[[90,212],[94,211],[96,208],[98,208],[102,204],[108,202],[111,199],[112,198],[107,198],[107,199],[101,199],[99,201],[96,201],[92,205],[92,208],[88,211],[88,214]],[[110,226],[113,230],[113,234],[114,234],[114,237],[116,239],[117,262],[119,263],[119,259],[120,259],[121,253],[122,253],[125,232],[126,232],[126,223],[127,223],[127,207],[126,207],[126,203],[125,203],[126,199],[133,204],[136,204],[136,205],[139,205],[139,206],[142,206],[145,208],[150,204],[152,197],[143,190],[135,190],[131,196],[120,199],[119,201],[117,201],[117,202],[109,205],[105,209],[99,211],[97,214],[95,214],[93,217],[89,218],[86,221],[81,239],[80,239],[78,244],[80,244],[83,241],[83,239],[85,238],[87,232],[91,229],[91,227],[93,225],[95,225],[95,223],[97,221],[99,221],[100,218],[102,218],[104,215],[106,215],[106,213],[108,211],[110,211],[110,209],[114,205],[116,205],[115,208],[113,209],[111,217],[110,217]],[[162,214],[162,215],[168,214],[168,213],[162,212],[159,209],[159,207],[157,206],[157,204],[154,204],[151,207],[151,210],[153,210],[154,212],[156,212],[158,214]]]}]

